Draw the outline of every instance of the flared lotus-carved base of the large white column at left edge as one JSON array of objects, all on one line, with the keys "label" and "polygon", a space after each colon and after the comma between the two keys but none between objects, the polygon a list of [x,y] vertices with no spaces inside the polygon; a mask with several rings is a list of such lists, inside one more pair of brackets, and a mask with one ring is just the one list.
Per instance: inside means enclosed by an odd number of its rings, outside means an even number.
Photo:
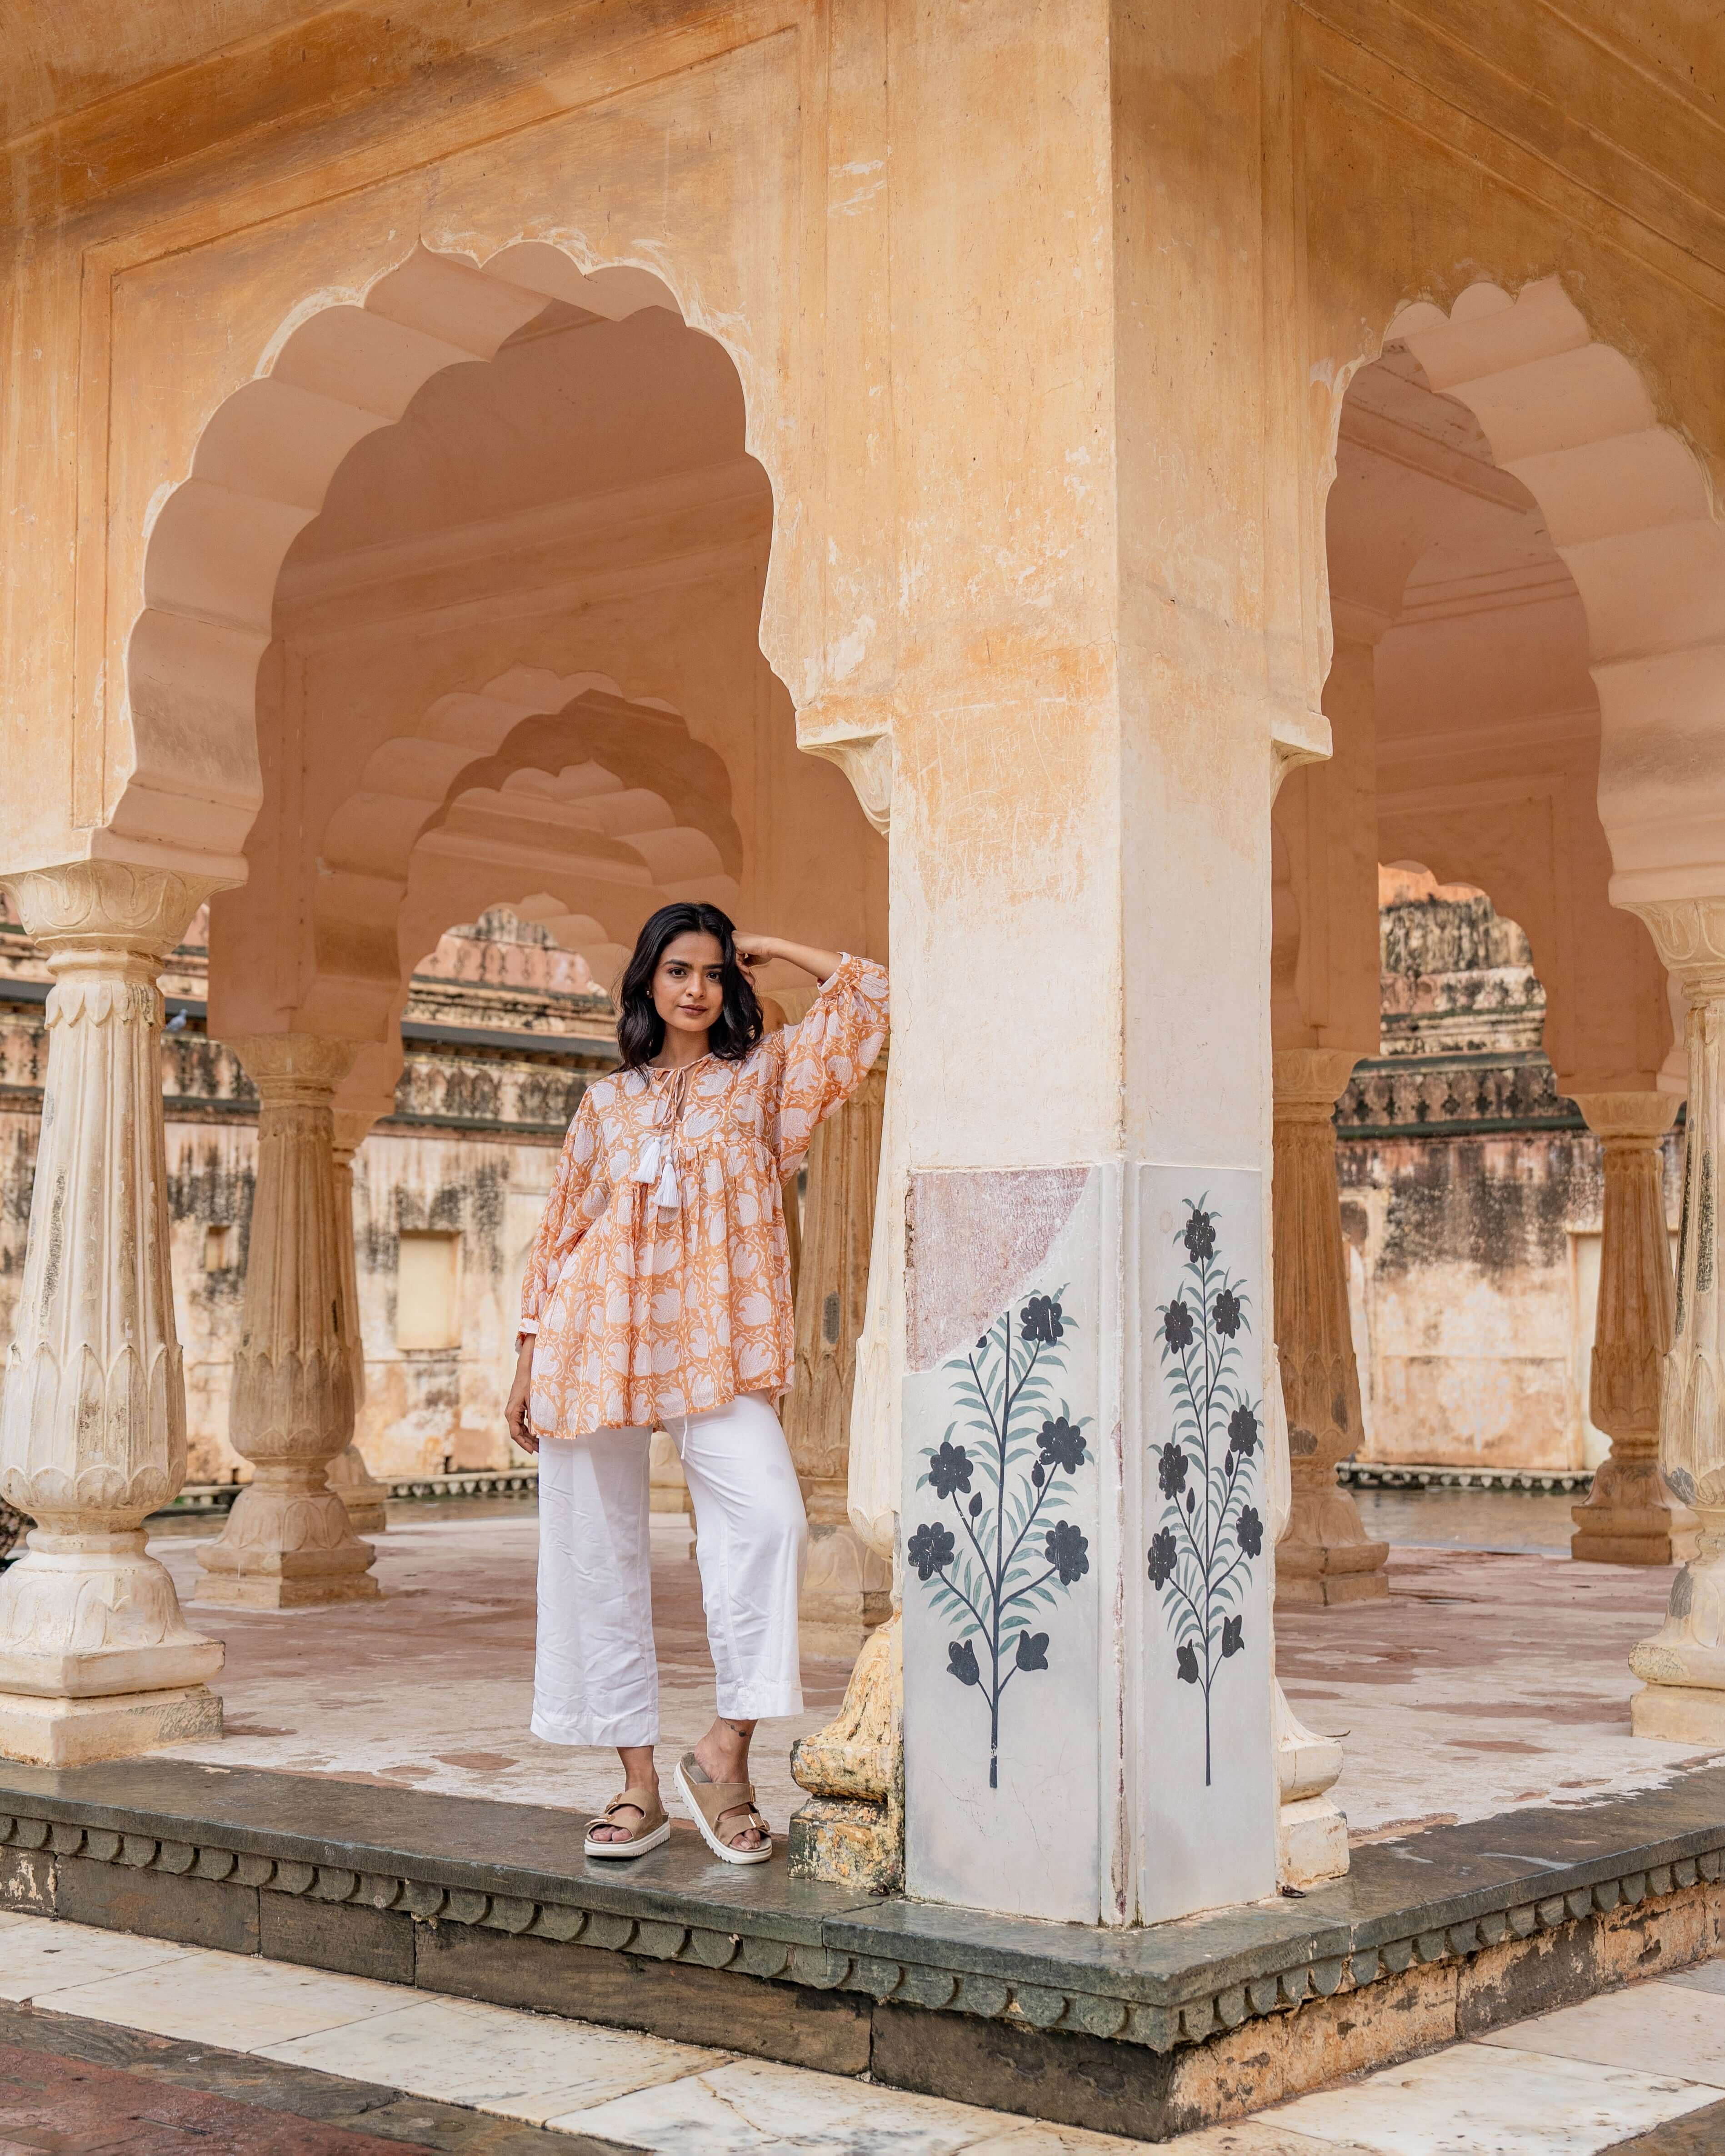
[{"label": "flared lotus-carved base of the large white column at left edge", "polygon": [[185,1623],[175,1583],[144,1554],[142,1529],[39,1526],[0,1580],[0,1690],[9,1695],[67,1705],[203,1688],[224,1656],[218,1639]]}]

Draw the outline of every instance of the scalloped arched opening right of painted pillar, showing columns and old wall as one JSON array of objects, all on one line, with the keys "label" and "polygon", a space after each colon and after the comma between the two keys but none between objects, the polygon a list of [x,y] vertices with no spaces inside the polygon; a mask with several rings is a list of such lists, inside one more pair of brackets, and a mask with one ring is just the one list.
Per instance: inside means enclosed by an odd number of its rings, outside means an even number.
[{"label": "scalloped arched opening right of painted pillar, showing columns and old wall", "polygon": [[[1669,1563],[1686,1516],[1654,1449],[1682,1054],[1626,903],[1716,852],[1708,787],[1678,783],[1725,688],[1699,468],[1557,282],[1479,285],[1451,315],[1404,310],[1348,382],[1326,565],[1335,757],[1283,785],[1272,847],[1279,1604],[1386,1593],[1382,1529],[1339,1473],[1354,1457],[1481,1490],[1568,1477],[1559,1507],[1598,1468],[1574,1557]],[[1399,979],[1397,912],[1404,940],[1449,934],[1453,979]],[[1322,1654],[1294,1639],[1309,1680]],[[1602,1742],[1615,1720],[1602,1697]]]}]

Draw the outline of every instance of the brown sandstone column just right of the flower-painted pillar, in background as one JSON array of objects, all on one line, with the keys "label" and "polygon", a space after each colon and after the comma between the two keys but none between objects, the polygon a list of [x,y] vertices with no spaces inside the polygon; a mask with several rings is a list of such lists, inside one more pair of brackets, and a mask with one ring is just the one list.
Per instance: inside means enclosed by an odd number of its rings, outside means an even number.
[{"label": "brown sandstone column just right of the flower-painted pillar, in background", "polygon": [[1276,1548],[1276,1608],[1326,1608],[1389,1593],[1389,1544],[1367,1542],[1335,1479],[1361,1442],[1361,1382],[1348,1326],[1348,1253],[1335,1184],[1333,1110],[1356,1056],[1274,1052],[1274,1309],[1294,1479]]}]

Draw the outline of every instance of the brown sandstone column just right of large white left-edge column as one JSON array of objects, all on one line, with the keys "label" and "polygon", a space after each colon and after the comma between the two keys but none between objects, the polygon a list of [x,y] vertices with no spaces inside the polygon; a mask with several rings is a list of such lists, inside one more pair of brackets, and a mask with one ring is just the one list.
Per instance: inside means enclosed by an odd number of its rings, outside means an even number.
[{"label": "brown sandstone column just right of large white left-edge column", "polygon": [[377,1593],[375,1550],[328,1481],[354,1436],[330,1112],[354,1046],[272,1033],[233,1048],[257,1082],[259,1125],[231,1438],[257,1475],[203,1552],[196,1600],[270,1611],[358,1602]]}]

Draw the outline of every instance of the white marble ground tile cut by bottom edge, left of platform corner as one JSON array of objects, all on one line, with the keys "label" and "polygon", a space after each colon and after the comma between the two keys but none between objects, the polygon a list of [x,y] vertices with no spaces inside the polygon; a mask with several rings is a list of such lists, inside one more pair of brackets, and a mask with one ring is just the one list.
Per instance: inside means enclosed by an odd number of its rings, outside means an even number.
[{"label": "white marble ground tile cut by bottom edge, left of platform corner", "polygon": [[[623,2096],[612,2104],[558,2117],[548,2126],[621,2141],[625,2147],[666,2156],[966,2156],[1031,2122],[998,2111],[975,2111],[936,2096],[906,2096],[867,2081],[843,2081],[798,2065],[733,2059],[658,2089]],[[1052,2137],[1052,2128],[1044,2128]],[[1098,2134],[1076,2147],[1138,2150],[1143,2143]],[[1009,2143],[1005,2143],[1009,2145]],[[1057,2156],[1059,2141],[1044,2143]],[[1044,2156],[1016,2150],[1013,2156]],[[1330,2156],[1330,2152],[1322,2152]]]}]

